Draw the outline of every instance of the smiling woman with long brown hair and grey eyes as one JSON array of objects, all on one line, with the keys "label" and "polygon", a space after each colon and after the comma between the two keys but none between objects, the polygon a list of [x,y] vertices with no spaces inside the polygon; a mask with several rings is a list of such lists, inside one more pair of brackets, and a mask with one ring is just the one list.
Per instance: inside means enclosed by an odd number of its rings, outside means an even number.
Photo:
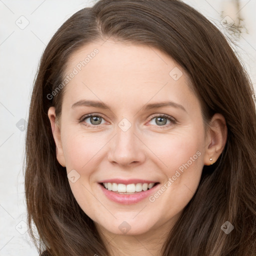
[{"label": "smiling woman with long brown hair and grey eyes", "polygon": [[51,38],[25,192],[43,255],[256,254],[256,114],[224,36],[178,0],[99,0]]}]

